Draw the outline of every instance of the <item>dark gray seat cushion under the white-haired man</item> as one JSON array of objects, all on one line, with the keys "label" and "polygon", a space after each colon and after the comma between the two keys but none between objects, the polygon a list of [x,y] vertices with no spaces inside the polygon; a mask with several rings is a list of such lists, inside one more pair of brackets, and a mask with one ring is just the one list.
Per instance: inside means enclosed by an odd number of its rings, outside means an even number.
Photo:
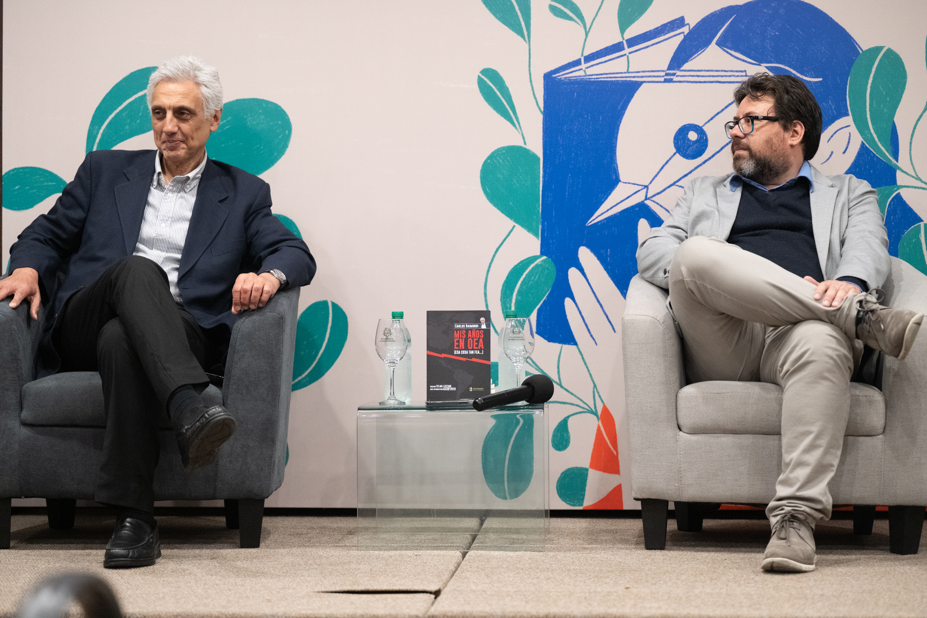
[{"label": "dark gray seat cushion under the white-haired man", "polygon": [[[222,391],[213,385],[203,392],[210,406],[222,403]],[[22,387],[19,422],[57,427],[105,427],[103,383],[97,372],[55,373]],[[161,415],[162,429],[171,428],[167,410]]]}]

